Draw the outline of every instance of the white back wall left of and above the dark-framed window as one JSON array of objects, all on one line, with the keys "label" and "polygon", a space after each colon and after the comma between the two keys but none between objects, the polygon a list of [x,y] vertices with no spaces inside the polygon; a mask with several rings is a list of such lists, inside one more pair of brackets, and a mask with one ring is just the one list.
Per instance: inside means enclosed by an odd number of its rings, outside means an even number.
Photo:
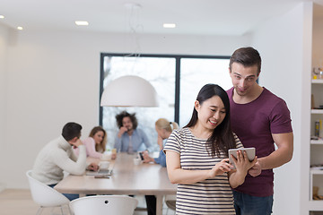
[{"label": "white back wall left of and above the dark-framed window", "polygon": [[[87,135],[99,124],[101,52],[134,52],[125,35],[70,32],[15,32],[7,50],[5,78],[7,116],[4,156],[10,160],[0,183],[28,187],[24,172],[32,168],[39,150],[75,121]],[[226,55],[249,45],[245,37],[141,35],[147,54]],[[9,43],[9,42],[8,42]]]}]

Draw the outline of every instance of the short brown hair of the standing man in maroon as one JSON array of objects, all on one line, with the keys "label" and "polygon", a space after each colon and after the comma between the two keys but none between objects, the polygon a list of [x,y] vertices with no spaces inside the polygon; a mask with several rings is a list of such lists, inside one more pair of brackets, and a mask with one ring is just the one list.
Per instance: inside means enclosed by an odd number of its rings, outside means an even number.
[{"label": "short brown hair of the standing man in maroon", "polygon": [[230,57],[230,70],[233,63],[242,64],[244,67],[257,65],[258,74],[261,70],[261,57],[258,50],[253,47],[240,47],[239,49],[235,50]]}]

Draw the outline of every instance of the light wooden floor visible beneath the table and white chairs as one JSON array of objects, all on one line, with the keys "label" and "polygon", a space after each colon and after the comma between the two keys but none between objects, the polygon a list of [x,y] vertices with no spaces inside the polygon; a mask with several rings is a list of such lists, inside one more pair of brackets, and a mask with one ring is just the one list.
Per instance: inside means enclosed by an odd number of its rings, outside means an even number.
[{"label": "light wooden floor visible beneath the table and white chairs", "polygon": [[[145,207],[144,196],[136,197],[139,201],[139,207]],[[0,214],[1,215],[35,215],[39,206],[32,201],[31,192],[29,189],[6,189],[0,192]],[[166,215],[167,206],[164,205],[162,212]],[[64,213],[68,214],[65,207]],[[60,214],[59,208],[44,209],[42,215]],[[134,215],[146,215],[146,211],[135,211]],[[175,214],[174,211],[169,210],[168,215]]]}]

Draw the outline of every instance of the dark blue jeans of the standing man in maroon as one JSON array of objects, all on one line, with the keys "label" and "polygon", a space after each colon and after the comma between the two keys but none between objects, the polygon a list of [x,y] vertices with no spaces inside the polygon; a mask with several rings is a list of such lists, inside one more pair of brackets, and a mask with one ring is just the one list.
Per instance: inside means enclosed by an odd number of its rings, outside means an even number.
[{"label": "dark blue jeans of the standing man in maroon", "polygon": [[273,209],[273,195],[258,197],[233,191],[234,208],[237,215],[270,215]]}]

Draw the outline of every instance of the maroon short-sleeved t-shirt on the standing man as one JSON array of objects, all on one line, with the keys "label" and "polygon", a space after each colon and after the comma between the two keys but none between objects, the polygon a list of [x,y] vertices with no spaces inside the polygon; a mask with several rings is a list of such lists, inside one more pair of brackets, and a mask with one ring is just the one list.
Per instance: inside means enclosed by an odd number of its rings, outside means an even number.
[{"label": "maroon short-sleeved t-shirt on the standing man", "polygon": [[[283,99],[269,90],[247,103],[237,104],[232,100],[233,88],[227,90],[230,99],[232,131],[238,135],[245,148],[255,147],[258,158],[275,150],[272,133],[291,133],[290,111]],[[236,191],[254,196],[268,196],[274,193],[273,169],[262,170],[260,176],[246,176],[245,182]]]}]

